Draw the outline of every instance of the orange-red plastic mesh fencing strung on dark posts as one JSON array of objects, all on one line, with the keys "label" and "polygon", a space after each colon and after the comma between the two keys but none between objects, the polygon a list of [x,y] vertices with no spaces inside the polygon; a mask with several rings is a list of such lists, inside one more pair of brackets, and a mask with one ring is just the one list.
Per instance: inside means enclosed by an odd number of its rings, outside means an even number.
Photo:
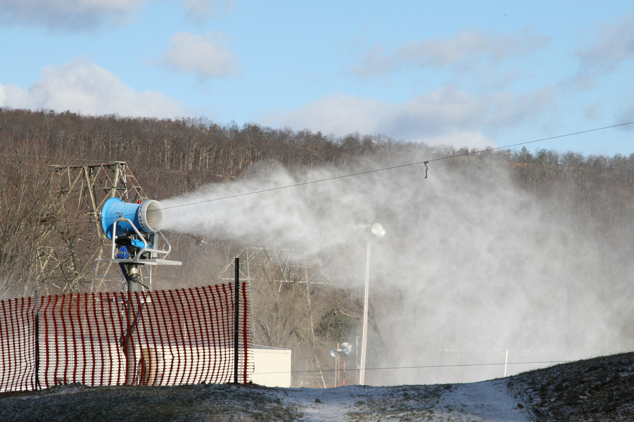
[{"label": "orange-red plastic mesh fencing strung on dark posts", "polygon": [[[241,283],[240,377],[249,358],[249,300]],[[64,383],[233,382],[233,283],[0,301],[0,392]],[[37,341],[36,341],[37,338]]]}]

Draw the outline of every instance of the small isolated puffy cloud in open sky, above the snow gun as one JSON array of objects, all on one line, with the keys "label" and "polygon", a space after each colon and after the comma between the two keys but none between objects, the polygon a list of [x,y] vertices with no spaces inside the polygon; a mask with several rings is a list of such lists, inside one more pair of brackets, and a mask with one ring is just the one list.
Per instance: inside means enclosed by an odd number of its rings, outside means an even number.
[{"label": "small isolated puffy cloud in open sky, above the snow gun", "polygon": [[195,35],[176,32],[163,52],[162,63],[179,73],[195,73],[200,79],[235,74],[239,65],[233,53],[224,47],[219,32]]}]

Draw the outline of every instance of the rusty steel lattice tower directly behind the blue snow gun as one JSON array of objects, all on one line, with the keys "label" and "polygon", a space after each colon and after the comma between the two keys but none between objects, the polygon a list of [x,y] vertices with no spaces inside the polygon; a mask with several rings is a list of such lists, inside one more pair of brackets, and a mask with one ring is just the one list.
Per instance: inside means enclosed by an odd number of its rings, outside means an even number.
[{"label": "rusty steel lattice tower directly behind the blue snow gun", "polygon": [[[107,253],[99,218],[103,202],[112,197],[136,202],[146,195],[124,161],[53,165],[51,170],[53,189],[49,211],[40,220],[46,236],[38,248],[36,282],[45,290],[55,287],[57,292],[79,292],[93,282],[94,259]],[[115,276],[115,280],[119,278]]]}]

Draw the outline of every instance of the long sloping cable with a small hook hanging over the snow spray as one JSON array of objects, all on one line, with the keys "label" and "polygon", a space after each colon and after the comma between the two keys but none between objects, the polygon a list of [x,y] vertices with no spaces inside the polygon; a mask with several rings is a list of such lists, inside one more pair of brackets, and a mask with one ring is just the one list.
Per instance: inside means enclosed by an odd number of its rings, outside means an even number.
[{"label": "long sloping cable with a small hook hanging over the snow spray", "polygon": [[375,169],[375,170],[359,171],[359,173],[351,173],[351,174],[349,174],[349,175],[342,175],[342,176],[328,177],[328,178],[325,178],[325,179],[311,180],[310,182],[295,183],[294,185],[286,185],[286,186],[272,187],[272,188],[270,188],[270,189],[256,190],[256,191],[254,191],[254,192],[245,192],[244,194],[229,195],[229,196],[223,196],[223,197],[214,198],[214,199],[206,199],[205,201],[190,202],[189,204],[174,205],[174,206],[171,206],[171,207],[165,207],[164,209],[179,208],[179,207],[184,207],[184,206],[188,206],[188,205],[195,205],[195,204],[203,204],[204,202],[220,201],[221,199],[230,199],[230,198],[236,198],[236,197],[246,196],[246,195],[252,195],[252,194],[261,194],[262,192],[271,192],[271,191],[273,191],[273,190],[287,189],[287,188],[289,188],[289,187],[297,187],[297,186],[303,186],[303,185],[311,185],[312,183],[327,182],[328,180],[337,180],[337,179],[346,178],[346,177],[353,177],[353,176],[359,176],[359,175],[366,175],[366,174],[368,174],[368,173],[375,173],[375,172],[377,172],[377,171],[393,170],[393,169],[395,169],[395,168],[403,168],[403,167],[408,167],[408,166],[415,166],[415,165],[418,165],[418,164],[427,164],[427,163],[431,163],[432,161],[440,161],[440,160],[442,160],[442,159],[456,158],[456,157],[462,157],[462,156],[467,156],[467,155],[471,155],[471,154],[479,154],[480,152],[489,152],[489,151],[495,151],[495,150],[497,150],[497,149],[505,149],[505,148],[510,148],[510,147],[516,147],[516,146],[519,146],[519,145],[533,144],[533,142],[540,142],[540,141],[542,141],[542,140],[557,139],[557,138],[562,138],[562,137],[566,137],[566,136],[579,135],[580,133],[595,132],[595,131],[597,131],[597,130],[604,130],[604,129],[614,128],[614,127],[619,127],[619,126],[631,125],[631,124],[633,124],[633,123],[634,123],[634,121],[630,121],[630,122],[628,122],[628,123],[621,123],[621,124],[619,124],[619,125],[606,126],[606,127],[601,127],[601,128],[596,128],[596,129],[590,129],[590,130],[582,130],[581,132],[566,133],[566,135],[552,136],[552,137],[550,137],[550,138],[543,138],[543,139],[529,140],[529,141],[527,141],[527,142],[519,142],[519,144],[512,144],[512,145],[507,145],[507,146],[503,146],[503,147],[496,147],[496,148],[490,148],[490,149],[482,149],[481,151],[464,152],[463,154],[455,154],[455,155],[446,156],[446,157],[440,157],[440,158],[428,159],[428,160],[425,160],[425,161],[417,161],[417,162],[415,162],[415,163],[400,164],[400,165],[398,165],[398,166],[391,166],[391,167],[377,168],[377,169]]}]

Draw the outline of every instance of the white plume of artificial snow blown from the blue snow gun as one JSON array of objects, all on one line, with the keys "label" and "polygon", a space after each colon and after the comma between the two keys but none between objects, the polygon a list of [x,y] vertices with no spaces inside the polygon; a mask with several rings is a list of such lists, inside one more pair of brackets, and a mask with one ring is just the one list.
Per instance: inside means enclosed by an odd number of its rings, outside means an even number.
[{"label": "white plume of artificial snow blown from the blue snow gun", "polygon": [[[629,220],[601,231],[605,222],[586,221],[595,219],[565,202],[569,192],[538,199],[506,165],[460,158],[430,163],[427,179],[419,165],[181,206],[385,163],[301,175],[269,168],[162,204],[169,230],[306,249],[355,292],[365,280],[366,243],[349,228],[382,223],[385,236],[372,241],[368,368],[504,363],[508,350],[510,363],[527,362],[509,365],[509,375],[548,366],[536,361],[631,350]],[[470,382],[504,371],[368,371],[366,382]]]}]

